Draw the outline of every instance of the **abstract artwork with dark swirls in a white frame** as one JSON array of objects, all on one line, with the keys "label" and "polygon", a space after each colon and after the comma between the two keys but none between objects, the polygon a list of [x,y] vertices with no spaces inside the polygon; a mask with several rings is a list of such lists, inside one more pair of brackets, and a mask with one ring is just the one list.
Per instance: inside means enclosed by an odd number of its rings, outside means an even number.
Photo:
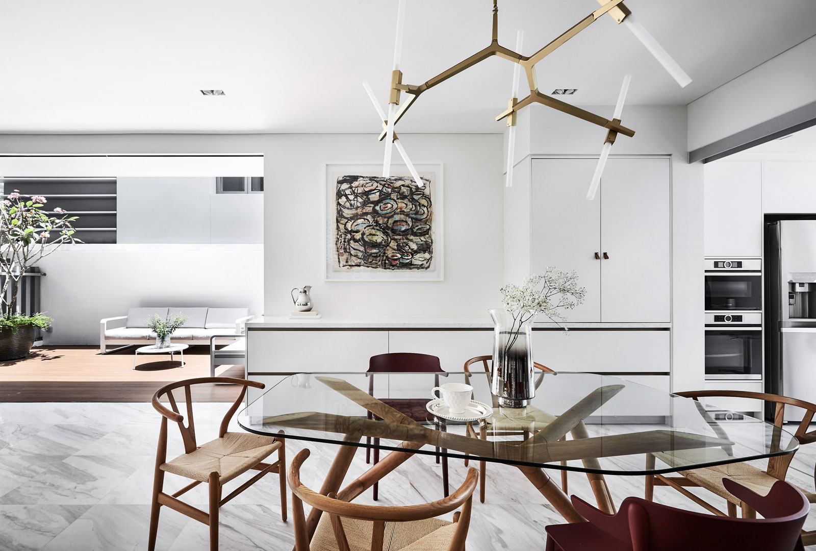
[{"label": "abstract artwork with dark swirls in a white frame", "polygon": [[441,281],[442,165],[326,165],[326,280]]}]

